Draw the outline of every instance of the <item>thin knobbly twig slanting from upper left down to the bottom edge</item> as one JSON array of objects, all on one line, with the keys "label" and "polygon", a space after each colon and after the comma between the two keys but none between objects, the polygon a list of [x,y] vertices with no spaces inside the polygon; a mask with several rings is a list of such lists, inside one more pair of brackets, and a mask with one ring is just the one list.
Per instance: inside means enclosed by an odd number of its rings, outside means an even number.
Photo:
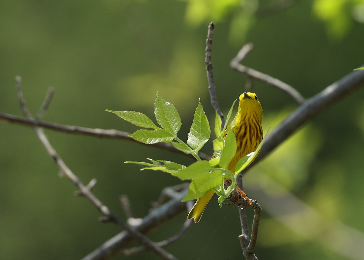
[{"label": "thin knobbly twig slanting from upper left down to the bottom edge", "polygon": [[[24,115],[26,115],[29,119],[31,118],[31,113],[28,111],[27,106],[25,105],[25,101],[23,98],[23,92],[21,91],[21,79],[17,77],[16,80],[16,87],[18,92],[18,98],[20,103],[20,108],[23,111]],[[85,186],[82,181],[71,171],[70,168],[64,163],[62,158],[57,154],[56,150],[52,147],[51,143],[48,141],[46,135],[43,132],[43,129],[40,127],[34,127],[34,130],[46,148],[47,152],[51,157],[54,159],[56,164],[62,170],[64,175],[70,179],[76,187],[79,189],[79,193],[82,194],[84,197],[88,199],[102,214],[104,214],[110,222],[120,226],[121,228],[127,230],[132,236],[140,241],[140,243],[146,245],[151,251],[153,251],[158,256],[162,257],[162,259],[166,260],[177,260],[176,257],[171,255],[170,253],[166,252],[161,247],[155,245],[152,241],[150,241],[147,237],[145,237],[142,233],[140,233],[137,229],[132,228],[131,226],[127,225],[124,221],[122,221],[118,216],[112,213],[107,206],[105,206],[96,196],[91,192],[91,187],[93,185],[90,184],[90,187]],[[91,182],[90,182],[91,183]]]}]

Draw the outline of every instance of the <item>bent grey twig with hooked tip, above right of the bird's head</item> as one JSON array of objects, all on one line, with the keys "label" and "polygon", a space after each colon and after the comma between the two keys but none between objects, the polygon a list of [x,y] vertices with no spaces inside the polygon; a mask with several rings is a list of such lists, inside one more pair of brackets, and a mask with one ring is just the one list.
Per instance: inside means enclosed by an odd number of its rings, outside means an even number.
[{"label": "bent grey twig with hooked tip, above right of the bird's head", "polygon": [[245,73],[246,75],[258,79],[262,82],[265,82],[267,84],[270,84],[284,92],[286,92],[294,101],[296,101],[298,104],[303,104],[305,102],[305,98],[298,92],[295,88],[288,85],[287,83],[282,82],[279,79],[273,78],[272,76],[269,76],[267,74],[264,74],[260,71],[256,71],[252,68],[246,67],[240,62],[245,58],[245,56],[253,50],[253,44],[247,43],[245,44],[241,50],[238,52],[238,54],[235,56],[235,58],[232,59],[230,62],[230,67],[232,67],[234,70],[239,71],[241,73]]}]

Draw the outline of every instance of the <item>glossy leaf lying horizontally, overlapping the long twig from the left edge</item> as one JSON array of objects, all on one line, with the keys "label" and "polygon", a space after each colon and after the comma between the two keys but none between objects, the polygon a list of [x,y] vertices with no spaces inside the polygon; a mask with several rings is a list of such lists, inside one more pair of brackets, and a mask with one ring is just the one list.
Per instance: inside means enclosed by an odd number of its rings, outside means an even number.
[{"label": "glossy leaf lying horizontally, overlapping the long twig from the left edge", "polygon": [[152,144],[152,143],[170,143],[174,139],[173,134],[169,133],[164,129],[155,129],[155,130],[147,130],[147,129],[139,129],[135,131],[134,134],[128,135],[136,141]]}]

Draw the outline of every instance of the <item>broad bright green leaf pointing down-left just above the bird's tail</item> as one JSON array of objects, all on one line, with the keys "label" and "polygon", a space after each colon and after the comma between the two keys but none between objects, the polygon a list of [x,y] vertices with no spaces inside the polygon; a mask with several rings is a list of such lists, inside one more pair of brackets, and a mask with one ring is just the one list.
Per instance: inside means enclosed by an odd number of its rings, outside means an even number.
[{"label": "broad bright green leaf pointing down-left just above the bird's tail", "polygon": [[209,190],[216,188],[221,184],[222,175],[221,171],[213,170],[212,172],[206,172],[202,176],[194,178],[190,184],[186,197],[182,201],[194,200],[195,198],[201,198]]}]

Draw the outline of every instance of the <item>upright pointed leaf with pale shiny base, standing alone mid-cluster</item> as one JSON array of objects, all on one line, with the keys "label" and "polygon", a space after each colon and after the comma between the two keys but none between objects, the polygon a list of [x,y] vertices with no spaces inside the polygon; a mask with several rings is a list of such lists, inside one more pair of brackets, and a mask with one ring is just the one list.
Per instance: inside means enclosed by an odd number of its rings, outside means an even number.
[{"label": "upright pointed leaf with pale shiny base, standing alone mid-cluster", "polygon": [[188,133],[187,144],[192,149],[198,151],[210,138],[210,125],[206,114],[203,111],[201,102],[198,101],[198,106],[193,117],[190,132]]}]

